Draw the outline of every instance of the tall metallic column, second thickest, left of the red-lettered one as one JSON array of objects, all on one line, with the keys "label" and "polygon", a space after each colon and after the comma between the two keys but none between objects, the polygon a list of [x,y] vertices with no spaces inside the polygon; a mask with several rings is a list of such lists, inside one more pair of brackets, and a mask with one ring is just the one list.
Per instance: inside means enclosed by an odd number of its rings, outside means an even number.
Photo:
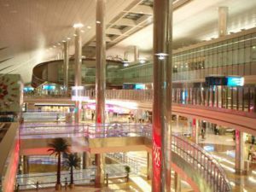
[{"label": "tall metallic column, second thickest, left of the red-lettered one", "polygon": [[[106,0],[96,0],[96,125],[105,123],[106,90]],[[100,126],[99,126],[100,127]],[[96,131],[101,131],[96,127]],[[104,184],[104,154],[96,154],[96,187]]]}]

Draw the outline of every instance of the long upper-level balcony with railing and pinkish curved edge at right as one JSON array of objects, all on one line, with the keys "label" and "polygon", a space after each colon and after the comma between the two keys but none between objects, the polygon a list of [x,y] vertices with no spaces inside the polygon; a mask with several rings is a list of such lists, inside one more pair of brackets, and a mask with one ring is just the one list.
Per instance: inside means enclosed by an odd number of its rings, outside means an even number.
[{"label": "long upper-level balcony with railing and pinkish curved edge at right", "polygon": [[[231,89],[224,88],[227,93]],[[195,90],[199,90],[195,88]],[[191,91],[196,93],[196,91]],[[207,90],[207,89],[205,89]],[[248,90],[248,89],[247,89]],[[172,113],[185,117],[202,119],[218,125],[228,126],[240,131],[256,134],[255,89],[249,91],[247,96],[245,90],[236,92],[244,93],[241,97],[229,97],[226,94],[217,95],[213,92],[197,92],[197,95],[188,95],[182,98],[180,89],[172,90]],[[184,91],[184,90],[183,90]],[[233,90],[234,91],[234,90]],[[221,92],[221,91],[220,91]],[[223,91],[224,92],[224,91]],[[178,93],[178,94],[177,94]],[[177,95],[175,95],[177,94]],[[207,95],[208,94],[208,95]],[[213,96],[214,95],[214,96]],[[94,90],[85,90],[84,96],[93,102]],[[232,96],[235,96],[234,92]],[[125,102],[136,102],[137,108],[152,110],[153,90],[106,90],[107,100],[122,100]],[[230,102],[232,100],[233,102]],[[25,96],[25,102],[72,102],[71,96]]]}]

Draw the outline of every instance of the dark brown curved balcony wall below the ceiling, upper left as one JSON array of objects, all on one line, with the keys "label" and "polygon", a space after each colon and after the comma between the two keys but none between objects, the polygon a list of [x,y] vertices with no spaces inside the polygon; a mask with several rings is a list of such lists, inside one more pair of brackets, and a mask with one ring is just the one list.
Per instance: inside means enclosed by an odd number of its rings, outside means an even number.
[{"label": "dark brown curved balcony wall below the ceiling, upper left", "polygon": [[[96,64],[95,59],[83,59],[82,60],[82,83],[83,84],[95,84]],[[121,61],[107,60],[107,84],[121,85],[117,70],[123,67]],[[69,61],[68,71],[68,84],[74,84],[74,60]],[[32,71],[32,86],[38,87],[44,82],[63,84],[63,60],[47,61],[38,64]]]}]

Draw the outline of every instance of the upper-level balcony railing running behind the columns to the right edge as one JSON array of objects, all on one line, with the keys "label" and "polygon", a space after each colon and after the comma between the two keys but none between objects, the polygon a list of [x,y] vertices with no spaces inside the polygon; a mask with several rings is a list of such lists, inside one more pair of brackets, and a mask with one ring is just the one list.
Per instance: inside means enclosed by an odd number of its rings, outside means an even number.
[{"label": "upper-level balcony railing running behind the columns to the right edge", "polygon": [[[94,100],[95,90],[85,90],[84,97]],[[25,95],[26,98],[71,98],[67,95]],[[107,99],[152,102],[153,90],[106,90]],[[232,111],[256,112],[256,87],[198,87],[172,89],[172,102],[206,108],[223,108]]]}]

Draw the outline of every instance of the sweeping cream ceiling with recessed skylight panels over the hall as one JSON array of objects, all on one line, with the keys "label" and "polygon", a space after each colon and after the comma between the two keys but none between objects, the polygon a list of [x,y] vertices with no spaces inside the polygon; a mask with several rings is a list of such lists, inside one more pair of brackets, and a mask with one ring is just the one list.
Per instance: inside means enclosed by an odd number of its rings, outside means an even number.
[{"label": "sweeping cream ceiling with recessed skylight panels over the hall", "polygon": [[[123,56],[131,45],[151,51],[152,2],[107,1],[107,40],[112,45],[108,55]],[[217,37],[219,6],[229,7],[229,32],[255,26],[256,1],[189,0],[174,11],[175,47]],[[84,24],[83,44],[90,46],[95,37],[95,15],[95,0],[0,0],[0,73],[20,73],[25,82],[30,82],[32,67],[55,59],[61,53],[59,44],[67,38],[71,38],[70,54],[73,54],[73,24],[77,22]],[[132,20],[139,26],[136,30],[132,28]],[[121,33],[120,38],[114,32]]]}]

